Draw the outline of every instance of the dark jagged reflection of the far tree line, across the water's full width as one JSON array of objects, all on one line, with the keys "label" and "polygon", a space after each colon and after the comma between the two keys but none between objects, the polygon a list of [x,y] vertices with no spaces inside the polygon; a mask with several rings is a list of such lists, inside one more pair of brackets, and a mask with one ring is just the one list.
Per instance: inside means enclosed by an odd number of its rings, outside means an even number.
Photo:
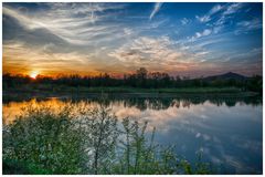
[{"label": "dark jagged reflection of the far tree line, across the water's full width", "polygon": [[[42,95],[38,96],[36,101],[49,101],[49,96]],[[40,98],[41,97],[41,98]],[[104,97],[104,98],[103,98]],[[222,105],[225,104],[226,106],[235,106],[236,103],[243,103],[247,105],[259,105],[262,104],[262,96],[236,96],[236,95],[230,95],[230,94],[223,94],[223,95],[204,95],[204,94],[188,94],[188,95],[130,95],[130,94],[107,94],[107,95],[100,95],[100,94],[89,94],[89,95],[66,95],[66,96],[60,96],[57,97],[61,101],[71,101],[72,103],[76,103],[80,101],[86,101],[86,102],[96,102],[98,104],[109,106],[114,102],[123,102],[125,107],[131,107],[135,106],[140,111],[145,111],[147,108],[152,110],[167,110],[170,106],[179,106],[180,102],[183,102],[184,105],[189,107],[191,104],[203,104],[204,102],[210,102],[214,105]],[[10,102],[26,102],[31,101],[32,96],[18,96],[18,97],[9,97],[3,96],[3,103],[8,104]]]}]

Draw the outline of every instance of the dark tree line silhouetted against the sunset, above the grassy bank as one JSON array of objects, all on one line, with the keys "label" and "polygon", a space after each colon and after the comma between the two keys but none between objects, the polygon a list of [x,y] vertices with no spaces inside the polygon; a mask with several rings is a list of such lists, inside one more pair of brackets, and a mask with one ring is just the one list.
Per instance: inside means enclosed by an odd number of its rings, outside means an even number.
[{"label": "dark tree line silhouetted against the sunset, above the grassy bank", "polygon": [[3,74],[3,90],[24,84],[52,84],[65,86],[86,86],[86,87],[139,87],[139,88],[177,88],[177,87],[241,87],[244,91],[262,93],[262,76],[254,75],[245,79],[212,79],[205,77],[190,79],[170,76],[163,72],[148,72],[140,67],[132,74],[125,74],[123,79],[113,77],[107,73],[97,76],[81,76],[78,74],[61,75],[57,77],[38,75],[31,79],[29,75]]}]

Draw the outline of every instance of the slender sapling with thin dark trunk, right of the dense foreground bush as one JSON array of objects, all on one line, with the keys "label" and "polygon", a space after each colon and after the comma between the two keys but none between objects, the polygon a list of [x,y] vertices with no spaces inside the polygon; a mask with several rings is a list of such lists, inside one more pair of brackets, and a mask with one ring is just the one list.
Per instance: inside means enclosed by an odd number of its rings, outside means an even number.
[{"label": "slender sapling with thin dark trunk, right of the dense foreground bush", "polygon": [[83,134],[84,154],[91,159],[86,168],[87,173],[103,174],[109,171],[115,153],[117,132],[117,117],[110,110],[95,107],[89,111],[86,107],[80,110],[81,117],[75,119],[78,131]]}]

